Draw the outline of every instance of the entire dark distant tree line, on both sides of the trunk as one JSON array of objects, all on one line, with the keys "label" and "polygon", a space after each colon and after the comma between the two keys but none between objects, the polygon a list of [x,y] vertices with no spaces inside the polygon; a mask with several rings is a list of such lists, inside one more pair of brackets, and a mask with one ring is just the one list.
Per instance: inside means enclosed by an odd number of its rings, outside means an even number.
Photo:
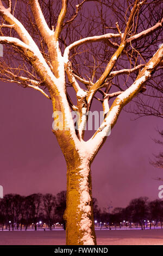
[{"label": "entire dark distant tree line, on both sides of the trunk", "polygon": [[[31,225],[37,230],[37,225],[46,223],[51,230],[54,223],[60,223],[65,228],[64,211],[66,209],[66,191],[61,191],[57,196],[53,194],[6,194],[0,199],[0,226],[9,230],[28,229]],[[149,201],[147,197],[140,197],[130,201],[126,208],[115,208],[112,212],[101,210],[98,201],[93,198],[93,213],[95,222],[99,227],[106,228],[133,225],[145,229],[148,225],[156,226],[163,223],[163,200]]]}]

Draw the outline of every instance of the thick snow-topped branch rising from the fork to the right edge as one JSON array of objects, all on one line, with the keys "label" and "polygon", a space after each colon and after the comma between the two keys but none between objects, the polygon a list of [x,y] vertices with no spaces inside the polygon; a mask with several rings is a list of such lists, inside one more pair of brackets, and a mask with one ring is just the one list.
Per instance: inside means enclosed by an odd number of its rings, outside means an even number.
[{"label": "thick snow-topped branch rising from the fork to the right edge", "polygon": [[93,145],[92,151],[94,154],[92,154],[92,157],[95,157],[97,151],[99,150],[99,147],[101,147],[101,145],[104,143],[106,139],[106,136],[108,136],[109,130],[112,129],[112,127],[114,127],[123,106],[125,106],[141,91],[142,86],[147,82],[147,80],[154,73],[154,71],[159,66],[162,59],[163,59],[163,45],[154,54],[152,59],[149,60],[145,68],[141,70],[135,82],[128,89],[126,89],[124,92],[122,92],[120,95],[116,97],[102,125],[95,132],[95,135],[93,135],[93,137],[87,142],[90,144],[90,141],[91,141]]}]

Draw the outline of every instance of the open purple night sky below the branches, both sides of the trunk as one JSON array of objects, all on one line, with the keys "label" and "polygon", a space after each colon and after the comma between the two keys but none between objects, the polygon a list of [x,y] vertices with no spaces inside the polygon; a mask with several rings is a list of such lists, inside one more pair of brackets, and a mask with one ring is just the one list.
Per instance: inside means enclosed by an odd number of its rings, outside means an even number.
[{"label": "open purple night sky below the branches, both sides of the trunk", "polygon": [[[52,103],[39,92],[1,82],[0,185],[4,194],[66,190],[66,163],[52,133]],[[130,199],[158,199],[163,172],[149,159],[161,150],[159,118],[121,112],[117,124],[92,163],[93,197],[100,206],[126,206]]]}]

